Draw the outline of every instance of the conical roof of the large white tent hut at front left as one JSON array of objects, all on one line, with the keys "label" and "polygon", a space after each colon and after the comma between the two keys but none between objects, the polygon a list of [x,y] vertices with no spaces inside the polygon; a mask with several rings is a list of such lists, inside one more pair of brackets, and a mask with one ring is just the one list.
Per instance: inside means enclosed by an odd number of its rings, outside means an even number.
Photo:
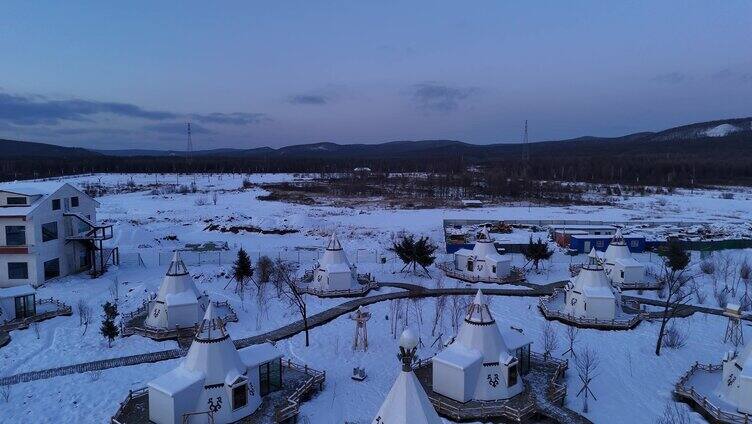
[{"label": "conical roof of the large white tent hut at front left", "polygon": [[243,374],[245,364],[225,330],[214,304],[206,309],[204,319],[193,339],[181,367],[204,375],[204,385],[224,384],[228,375]]}]

